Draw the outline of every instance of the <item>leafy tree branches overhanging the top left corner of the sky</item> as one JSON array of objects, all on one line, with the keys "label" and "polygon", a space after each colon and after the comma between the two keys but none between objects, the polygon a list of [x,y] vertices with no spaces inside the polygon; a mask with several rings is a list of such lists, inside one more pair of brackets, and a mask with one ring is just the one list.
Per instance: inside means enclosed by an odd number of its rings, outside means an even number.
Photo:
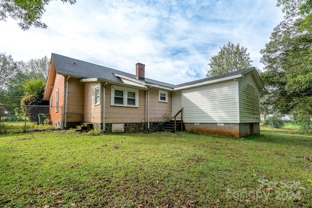
[{"label": "leafy tree branches overhanging the top left corner of the sky", "polygon": [[[40,19],[45,12],[44,7],[51,0],[1,0],[0,1],[0,20],[5,20],[11,17],[15,20],[20,20],[18,23],[22,30],[28,30],[31,26],[39,28],[47,28],[48,26],[41,22]],[[61,0],[76,3],[76,0]]]}]

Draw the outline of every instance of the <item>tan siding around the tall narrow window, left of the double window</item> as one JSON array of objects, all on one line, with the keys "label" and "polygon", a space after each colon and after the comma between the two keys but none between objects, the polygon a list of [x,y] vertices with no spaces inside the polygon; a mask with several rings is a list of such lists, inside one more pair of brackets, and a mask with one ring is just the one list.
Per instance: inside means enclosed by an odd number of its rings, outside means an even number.
[{"label": "tan siding around the tall narrow window, left of the double window", "polygon": [[84,84],[84,122],[102,123],[102,89],[100,84],[100,105],[94,105],[94,87],[98,82],[87,82]]}]

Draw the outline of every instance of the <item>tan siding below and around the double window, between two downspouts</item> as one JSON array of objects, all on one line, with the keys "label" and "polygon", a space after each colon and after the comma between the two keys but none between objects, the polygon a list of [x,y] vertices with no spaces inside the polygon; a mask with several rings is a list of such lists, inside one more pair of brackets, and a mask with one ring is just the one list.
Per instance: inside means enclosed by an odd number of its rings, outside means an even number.
[{"label": "tan siding below and around the double window, between two downspouts", "polygon": [[[105,87],[105,122],[106,123],[141,123],[146,122],[146,91],[139,90],[138,107],[112,106],[111,84]],[[101,103],[103,101],[102,91],[100,93]]]}]

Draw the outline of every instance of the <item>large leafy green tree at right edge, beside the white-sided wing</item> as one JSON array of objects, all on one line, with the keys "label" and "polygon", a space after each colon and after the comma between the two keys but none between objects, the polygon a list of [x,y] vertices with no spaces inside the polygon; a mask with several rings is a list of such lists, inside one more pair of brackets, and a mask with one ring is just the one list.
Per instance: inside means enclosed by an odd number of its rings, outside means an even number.
[{"label": "large leafy green tree at right edge, beside the white-sided wing", "polygon": [[[263,105],[280,113],[312,117],[312,31],[304,26],[310,14],[301,13],[308,1],[279,0],[285,19],[274,28],[264,49],[260,74],[267,89]],[[287,4],[287,2],[289,4]]]}]

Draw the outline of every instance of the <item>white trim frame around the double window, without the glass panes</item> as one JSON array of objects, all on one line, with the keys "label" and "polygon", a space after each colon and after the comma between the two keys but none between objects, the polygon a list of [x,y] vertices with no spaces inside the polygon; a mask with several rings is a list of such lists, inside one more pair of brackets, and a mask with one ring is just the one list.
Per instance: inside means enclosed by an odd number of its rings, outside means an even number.
[{"label": "white trim frame around the double window, without the glass panes", "polygon": [[[123,91],[123,104],[115,104],[115,90]],[[136,103],[135,105],[128,105],[128,92],[133,92],[136,94]],[[122,106],[122,107],[138,107],[138,89],[121,87],[117,85],[112,85],[111,89],[111,106]]]}]

